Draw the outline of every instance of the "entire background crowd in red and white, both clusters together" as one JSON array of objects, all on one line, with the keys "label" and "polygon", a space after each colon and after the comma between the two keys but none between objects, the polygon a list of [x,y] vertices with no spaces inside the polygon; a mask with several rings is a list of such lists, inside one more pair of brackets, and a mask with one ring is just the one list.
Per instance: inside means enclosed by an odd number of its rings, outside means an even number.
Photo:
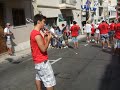
[{"label": "entire background crowd in red and white, both clusters together", "polygon": [[[95,44],[102,44],[102,49],[112,48],[113,54],[118,54],[120,52],[120,31],[119,31],[119,22],[111,21],[107,23],[106,20],[102,20],[102,22],[98,22],[96,24],[86,22],[84,25],[84,33],[86,34],[86,42],[87,43],[95,43]],[[52,48],[68,48],[69,43],[68,39],[72,39],[74,43],[74,48],[78,48],[78,39],[77,36],[79,35],[80,26],[77,24],[76,21],[73,21],[72,26],[68,26],[65,24],[61,25],[62,28],[60,29],[58,26],[53,26],[50,31],[53,32],[58,39],[52,37],[51,39],[51,47]],[[63,41],[65,44],[63,44]]]}]

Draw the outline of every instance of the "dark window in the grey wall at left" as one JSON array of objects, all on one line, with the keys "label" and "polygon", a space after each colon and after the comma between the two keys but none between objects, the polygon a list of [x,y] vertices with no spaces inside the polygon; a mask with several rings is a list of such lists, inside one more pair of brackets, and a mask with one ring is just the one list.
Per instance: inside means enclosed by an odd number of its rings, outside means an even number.
[{"label": "dark window in the grey wall at left", "polygon": [[14,26],[20,26],[25,25],[25,12],[24,9],[12,9],[12,15],[13,15],[13,25]]}]

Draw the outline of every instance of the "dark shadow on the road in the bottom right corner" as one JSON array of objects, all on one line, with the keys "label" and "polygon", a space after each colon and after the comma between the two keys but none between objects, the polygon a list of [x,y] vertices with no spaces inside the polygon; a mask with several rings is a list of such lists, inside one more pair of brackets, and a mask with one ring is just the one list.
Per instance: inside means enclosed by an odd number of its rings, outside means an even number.
[{"label": "dark shadow on the road in the bottom right corner", "polygon": [[120,90],[120,57],[112,56],[101,78],[99,90]]}]

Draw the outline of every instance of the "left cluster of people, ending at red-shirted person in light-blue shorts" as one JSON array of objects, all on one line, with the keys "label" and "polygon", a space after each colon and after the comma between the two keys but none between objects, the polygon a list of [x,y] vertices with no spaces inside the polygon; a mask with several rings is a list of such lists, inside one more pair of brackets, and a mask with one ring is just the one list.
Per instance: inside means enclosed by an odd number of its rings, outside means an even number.
[{"label": "left cluster of people, ending at red-shirted person in light-blue shorts", "polygon": [[77,25],[77,22],[73,21],[71,27],[65,24],[62,24],[61,27],[61,29],[55,25],[51,27],[50,31],[54,35],[52,36],[50,46],[52,48],[68,48],[70,46],[68,40],[72,39],[74,48],[78,48],[77,36],[79,35],[80,26]]}]

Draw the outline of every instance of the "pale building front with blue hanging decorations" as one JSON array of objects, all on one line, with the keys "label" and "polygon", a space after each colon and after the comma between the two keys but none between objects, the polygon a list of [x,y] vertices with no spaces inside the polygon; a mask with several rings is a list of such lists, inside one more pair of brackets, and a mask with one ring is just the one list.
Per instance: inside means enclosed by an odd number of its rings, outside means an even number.
[{"label": "pale building front with blue hanging decorations", "polygon": [[94,23],[98,20],[99,8],[98,0],[81,0],[81,12],[82,12],[82,24],[84,25],[87,21]]}]

